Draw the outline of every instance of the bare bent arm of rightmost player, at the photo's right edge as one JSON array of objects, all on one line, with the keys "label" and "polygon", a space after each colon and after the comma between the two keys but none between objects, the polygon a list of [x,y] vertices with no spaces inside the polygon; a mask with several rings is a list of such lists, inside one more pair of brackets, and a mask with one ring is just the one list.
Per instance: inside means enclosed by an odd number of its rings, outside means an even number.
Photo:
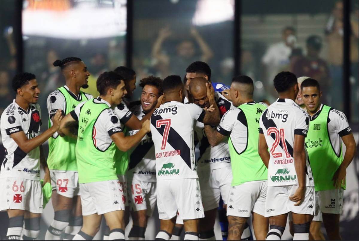
[{"label": "bare bent arm of rightmost player, at the photo's right edge", "polygon": [[346,151],[344,154],[343,162],[340,164],[338,170],[334,173],[333,176],[334,186],[336,188],[341,188],[341,186],[344,184],[343,182],[345,182],[346,168],[353,160],[356,148],[353,133],[342,136],[341,139],[344,142]]}]

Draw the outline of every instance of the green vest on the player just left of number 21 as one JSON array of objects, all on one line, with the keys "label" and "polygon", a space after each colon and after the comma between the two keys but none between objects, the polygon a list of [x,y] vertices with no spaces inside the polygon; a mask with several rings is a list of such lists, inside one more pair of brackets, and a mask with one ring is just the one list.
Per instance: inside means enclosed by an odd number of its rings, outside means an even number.
[{"label": "green vest on the player just left of number 21", "polygon": [[247,120],[247,147],[243,152],[238,153],[231,138],[228,140],[233,174],[232,186],[250,181],[265,181],[268,178],[267,168],[258,154],[259,119],[266,107],[256,103],[244,104],[238,108],[244,112]]}]

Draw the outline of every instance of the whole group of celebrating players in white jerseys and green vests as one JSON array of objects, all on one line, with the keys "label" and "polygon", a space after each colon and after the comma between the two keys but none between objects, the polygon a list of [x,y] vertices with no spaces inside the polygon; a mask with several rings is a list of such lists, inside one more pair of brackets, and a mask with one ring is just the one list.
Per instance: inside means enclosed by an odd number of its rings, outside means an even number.
[{"label": "whole group of celebrating players in white jerseys and green vests", "polygon": [[[92,240],[102,216],[104,239],[124,240],[129,211],[129,239],[144,240],[156,203],[156,239],[179,238],[182,225],[176,221],[182,219],[185,240],[215,240],[221,199],[229,240],[250,237],[251,215],[257,240],[280,240],[288,213],[295,240],[308,240],[309,232],[320,239],[321,220],[329,238],[340,239],[355,141],[344,113],[320,103],[316,80],[279,73],[279,98],[268,106],[253,100],[247,76],[215,92],[209,66],[198,61],[186,69],[184,83],[178,75],[142,79],[140,102],[129,103],[133,70],[101,74],[99,97],[93,98],[80,90],[90,75],[81,59],[54,65],[66,85],[47,98],[49,129],[39,132],[40,91],[33,74],[14,77],[16,98],[1,115],[6,154],[0,209],[9,215],[8,239],[22,233],[24,240],[37,238],[48,182],[55,215],[46,240]],[[41,145],[47,139],[45,161]]]}]

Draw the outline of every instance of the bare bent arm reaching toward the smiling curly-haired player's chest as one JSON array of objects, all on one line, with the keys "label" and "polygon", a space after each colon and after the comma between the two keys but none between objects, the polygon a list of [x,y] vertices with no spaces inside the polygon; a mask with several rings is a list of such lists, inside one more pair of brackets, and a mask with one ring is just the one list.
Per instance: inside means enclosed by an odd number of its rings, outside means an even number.
[{"label": "bare bent arm reaching toward the smiling curly-haired player's chest", "polygon": [[118,149],[120,149],[122,152],[127,152],[127,150],[139,143],[142,138],[150,131],[150,121],[146,120],[142,124],[142,128],[135,135],[125,136],[123,132],[118,132],[111,135],[111,139],[116,144]]}]

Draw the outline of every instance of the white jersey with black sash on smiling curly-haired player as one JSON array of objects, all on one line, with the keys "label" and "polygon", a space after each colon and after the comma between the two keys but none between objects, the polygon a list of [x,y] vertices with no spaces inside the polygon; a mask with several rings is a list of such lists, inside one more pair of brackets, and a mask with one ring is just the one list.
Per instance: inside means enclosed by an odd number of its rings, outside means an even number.
[{"label": "white jersey with black sash on smiling curly-haired player", "polygon": [[[131,112],[139,119],[146,115],[141,105],[131,108]],[[129,135],[134,135],[139,130],[129,131]],[[146,182],[156,181],[156,159],[155,148],[152,138],[145,135],[136,147],[130,150],[129,172],[136,175],[136,179]]]}]

